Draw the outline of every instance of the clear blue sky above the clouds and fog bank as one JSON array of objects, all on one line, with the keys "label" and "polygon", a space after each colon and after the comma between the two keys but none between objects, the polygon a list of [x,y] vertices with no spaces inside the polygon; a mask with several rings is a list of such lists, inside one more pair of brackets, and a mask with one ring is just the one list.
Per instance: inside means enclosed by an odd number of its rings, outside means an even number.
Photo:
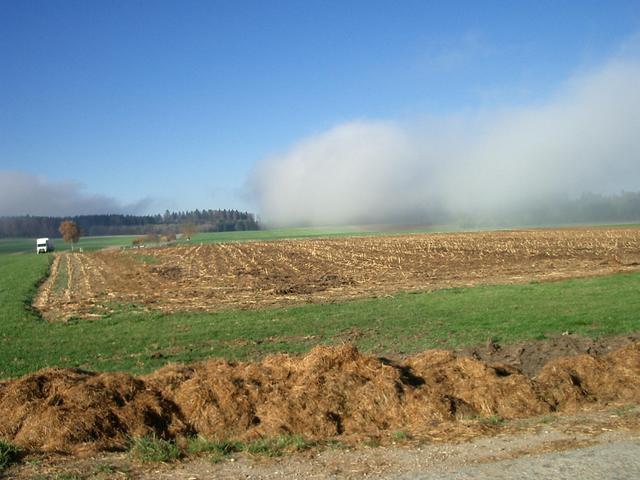
[{"label": "clear blue sky above the clouds and fog bank", "polygon": [[260,211],[305,139],[544,103],[638,32],[639,1],[0,0],[0,214]]}]

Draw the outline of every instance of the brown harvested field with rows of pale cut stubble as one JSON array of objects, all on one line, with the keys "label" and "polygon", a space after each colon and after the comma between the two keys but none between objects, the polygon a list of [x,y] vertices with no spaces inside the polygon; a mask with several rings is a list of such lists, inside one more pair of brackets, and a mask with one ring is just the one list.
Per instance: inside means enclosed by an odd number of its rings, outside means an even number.
[{"label": "brown harvested field with rows of pale cut stubble", "polygon": [[50,321],[135,305],[215,311],[640,269],[640,229],[574,228],[65,253],[34,306]]}]

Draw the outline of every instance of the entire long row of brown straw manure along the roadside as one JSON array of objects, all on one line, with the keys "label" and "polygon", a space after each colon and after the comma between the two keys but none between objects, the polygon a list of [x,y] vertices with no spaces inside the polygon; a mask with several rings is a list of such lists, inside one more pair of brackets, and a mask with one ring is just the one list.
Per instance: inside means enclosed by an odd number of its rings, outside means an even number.
[{"label": "entire long row of brown straw manure along the roadside", "polygon": [[357,438],[454,431],[469,419],[572,412],[640,400],[640,342],[552,360],[537,376],[430,350],[402,364],[352,345],[261,362],[212,359],[151,375],[45,369],[0,382],[0,439],[32,451],[125,448],[128,439],[283,433]]}]

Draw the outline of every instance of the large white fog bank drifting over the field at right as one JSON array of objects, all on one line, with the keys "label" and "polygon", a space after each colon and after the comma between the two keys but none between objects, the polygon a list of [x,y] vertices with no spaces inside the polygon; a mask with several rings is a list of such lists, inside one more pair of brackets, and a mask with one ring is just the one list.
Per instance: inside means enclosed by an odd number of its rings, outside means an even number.
[{"label": "large white fog bank drifting over the field at right", "polygon": [[544,102],[418,120],[356,120],[261,162],[269,225],[423,223],[640,190],[640,61],[570,78]]}]

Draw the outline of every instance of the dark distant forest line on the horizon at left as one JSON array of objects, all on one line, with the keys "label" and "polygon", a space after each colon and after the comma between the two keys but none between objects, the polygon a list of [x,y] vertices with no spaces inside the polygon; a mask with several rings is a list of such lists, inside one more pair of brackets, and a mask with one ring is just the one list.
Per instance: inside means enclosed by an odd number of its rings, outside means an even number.
[{"label": "dark distant forest line on the horizon at left", "polygon": [[166,211],[164,215],[78,215],[74,217],[0,217],[0,238],[60,237],[58,228],[64,220],[72,220],[83,236],[145,235],[179,233],[185,224],[195,225],[200,232],[259,230],[252,213],[237,210]]}]

